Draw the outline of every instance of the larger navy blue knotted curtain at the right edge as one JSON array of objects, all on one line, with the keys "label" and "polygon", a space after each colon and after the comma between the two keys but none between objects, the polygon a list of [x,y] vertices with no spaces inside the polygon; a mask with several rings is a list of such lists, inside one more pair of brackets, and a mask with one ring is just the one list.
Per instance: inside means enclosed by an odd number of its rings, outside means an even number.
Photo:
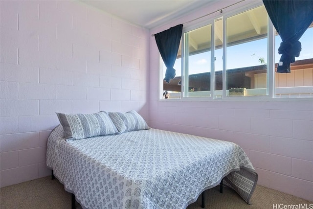
[{"label": "larger navy blue knotted curtain at the right edge", "polygon": [[277,72],[289,73],[299,57],[299,39],[313,22],[313,0],[263,0],[268,16],[282,39]]}]

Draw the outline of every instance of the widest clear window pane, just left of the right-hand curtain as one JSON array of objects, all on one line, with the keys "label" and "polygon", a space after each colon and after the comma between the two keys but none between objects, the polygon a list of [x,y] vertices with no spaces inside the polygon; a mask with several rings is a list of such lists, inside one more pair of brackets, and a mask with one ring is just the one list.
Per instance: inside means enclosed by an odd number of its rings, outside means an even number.
[{"label": "widest clear window pane, just left of the right-hand curtain", "polygon": [[226,95],[267,95],[268,15],[260,6],[226,19]]}]

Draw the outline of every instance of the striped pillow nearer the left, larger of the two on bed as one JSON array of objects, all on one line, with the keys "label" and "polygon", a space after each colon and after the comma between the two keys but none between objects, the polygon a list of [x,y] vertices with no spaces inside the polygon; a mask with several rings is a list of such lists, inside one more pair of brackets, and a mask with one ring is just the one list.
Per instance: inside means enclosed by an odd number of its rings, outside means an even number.
[{"label": "striped pillow nearer the left, larger of the two on bed", "polygon": [[94,136],[118,134],[108,113],[94,114],[57,113],[66,139],[85,139]]}]

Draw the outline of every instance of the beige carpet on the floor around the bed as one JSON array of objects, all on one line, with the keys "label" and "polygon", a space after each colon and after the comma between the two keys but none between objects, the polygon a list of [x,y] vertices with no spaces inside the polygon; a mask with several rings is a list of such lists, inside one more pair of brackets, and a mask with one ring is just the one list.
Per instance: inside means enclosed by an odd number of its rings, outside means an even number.
[{"label": "beige carpet on the floor around the bed", "polygon": [[[313,209],[313,202],[263,186],[256,187],[251,202],[252,205],[247,205],[236,192],[227,187],[224,187],[222,194],[217,186],[207,190],[205,195],[205,208],[207,209],[279,209],[279,207],[286,206],[287,208],[299,204],[304,209]],[[274,206],[277,204],[277,207],[273,207],[273,204]],[[70,193],[64,190],[64,186],[58,180],[51,180],[50,177],[0,189],[0,209],[70,208]],[[77,208],[80,206],[78,205]],[[201,197],[187,209],[201,209]]]}]

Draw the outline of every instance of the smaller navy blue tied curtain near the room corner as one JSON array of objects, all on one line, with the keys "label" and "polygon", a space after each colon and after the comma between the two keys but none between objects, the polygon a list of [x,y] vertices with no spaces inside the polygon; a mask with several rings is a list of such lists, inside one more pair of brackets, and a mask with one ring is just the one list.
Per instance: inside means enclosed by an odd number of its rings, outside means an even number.
[{"label": "smaller navy blue tied curtain near the room corner", "polygon": [[155,34],[157,48],[166,66],[164,80],[167,83],[170,83],[170,80],[176,75],[176,70],[173,67],[179,49],[182,26],[182,24],[179,24]]}]

